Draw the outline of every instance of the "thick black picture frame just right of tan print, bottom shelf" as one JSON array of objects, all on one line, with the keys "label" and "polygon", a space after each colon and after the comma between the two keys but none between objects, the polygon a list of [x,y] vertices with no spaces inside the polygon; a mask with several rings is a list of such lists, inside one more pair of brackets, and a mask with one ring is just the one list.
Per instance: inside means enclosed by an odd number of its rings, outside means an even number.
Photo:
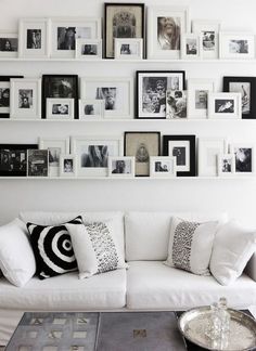
[{"label": "thick black picture frame just right of tan print, bottom shelf", "polygon": [[177,177],[195,177],[195,135],[164,135],[163,136],[163,156],[177,156],[169,152],[170,141],[185,141],[190,144],[190,167],[188,171],[178,171]]}]

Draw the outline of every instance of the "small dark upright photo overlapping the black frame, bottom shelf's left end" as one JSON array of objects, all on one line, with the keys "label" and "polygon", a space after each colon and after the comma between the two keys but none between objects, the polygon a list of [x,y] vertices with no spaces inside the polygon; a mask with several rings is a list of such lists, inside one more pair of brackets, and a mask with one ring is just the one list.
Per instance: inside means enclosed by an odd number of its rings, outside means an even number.
[{"label": "small dark upright photo overlapping the black frame, bottom shelf's left end", "polygon": [[48,150],[27,150],[27,177],[48,177]]}]

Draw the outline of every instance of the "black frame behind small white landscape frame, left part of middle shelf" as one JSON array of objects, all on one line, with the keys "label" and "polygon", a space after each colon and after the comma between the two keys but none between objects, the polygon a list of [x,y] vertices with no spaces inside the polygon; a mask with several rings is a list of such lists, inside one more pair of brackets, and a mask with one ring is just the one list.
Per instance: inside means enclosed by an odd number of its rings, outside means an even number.
[{"label": "black frame behind small white landscape frame, left part of middle shelf", "polygon": [[75,92],[73,92],[73,96],[71,99],[74,99],[74,116],[75,119],[78,119],[78,75],[42,75],[42,119],[47,118],[47,98],[49,96],[50,91],[50,83],[51,78],[73,78],[74,79],[74,87]]}]

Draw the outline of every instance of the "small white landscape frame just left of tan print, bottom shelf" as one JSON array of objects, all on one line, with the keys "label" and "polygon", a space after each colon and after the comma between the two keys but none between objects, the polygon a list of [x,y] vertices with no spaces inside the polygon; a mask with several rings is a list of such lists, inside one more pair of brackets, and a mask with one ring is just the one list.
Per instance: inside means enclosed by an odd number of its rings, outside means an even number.
[{"label": "small white landscape frame just left of tan print, bottom shelf", "polygon": [[108,157],[108,177],[133,178],[135,157]]}]

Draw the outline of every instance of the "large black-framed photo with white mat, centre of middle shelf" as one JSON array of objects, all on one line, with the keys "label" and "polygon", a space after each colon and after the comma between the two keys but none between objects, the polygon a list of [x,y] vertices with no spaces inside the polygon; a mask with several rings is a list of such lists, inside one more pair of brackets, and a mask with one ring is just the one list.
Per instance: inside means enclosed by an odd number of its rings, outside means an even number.
[{"label": "large black-framed photo with white mat, centre of middle shelf", "polygon": [[[171,76],[177,75],[179,79],[179,86],[177,90],[185,90],[185,72],[184,70],[137,70],[136,72],[136,91],[137,91],[137,99],[136,99],[136,118],[140,119],[166,119],[166,91],[168,87],[164,87],[164,78],[171,78]],[[152,78],[152,82],[148,80],[145,83],[149,87],[143,87],[142,79]],[[169,81],[171,82],[171,81]],[[166,80],[166,86],[168,84],[168,80]],[[159,87],[161,86],[161,87]],[[148,89],[149,88],[149,89]],[[162,88],[163,90],[163,98],[159,98],[161,91],[157,92],[157,89]],[[146,92],[146,95],[143,90],[150,90]],[[176,90],[176,89],[174,89]],[[153,99],[156,98],[158,101],[157,109],[151,108],[154,104]],[[144,99],[149,100],[149,108],[143,108]],[[161,101],[164,104],[161,104]],[[141,102],[141,104],[140,104]],[[152,103],[151,103],[152,102]],[[165,105],[165,110],[161,112],[161,105]],[[145,110],[143,110],[145,109]],[[146,110],[148,109],[148,110]],[[149,109],[152,109],[150,112]],[[158,115],[158,116],[157,116]]]}]

